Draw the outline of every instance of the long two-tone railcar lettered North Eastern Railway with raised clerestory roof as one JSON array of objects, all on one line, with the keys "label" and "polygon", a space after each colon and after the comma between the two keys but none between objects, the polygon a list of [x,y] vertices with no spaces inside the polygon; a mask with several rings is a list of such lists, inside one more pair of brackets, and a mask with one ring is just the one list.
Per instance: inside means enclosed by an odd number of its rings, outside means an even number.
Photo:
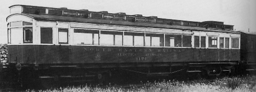
[{"label": "long two-tone railcar lettered North Eastern Railway with raised clerestory roof", "polygon": [[7,68],[13,81],[24,86],[38,79],[102,83],[123,72],[219,76],[234,72],[240,62],[241,33],[224,22],[31,5],[9,8]]}]

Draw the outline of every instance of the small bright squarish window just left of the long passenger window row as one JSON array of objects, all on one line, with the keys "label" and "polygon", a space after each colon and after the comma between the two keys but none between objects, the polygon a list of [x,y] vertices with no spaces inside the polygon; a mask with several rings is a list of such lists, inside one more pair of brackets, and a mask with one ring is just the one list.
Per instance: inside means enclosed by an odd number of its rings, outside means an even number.
[{"label": "small bright squarish window just left of the long passenger window row", "polygon": [[67,44],[68,43],[68,31],[67,28],[59,28],[59,44]]}]

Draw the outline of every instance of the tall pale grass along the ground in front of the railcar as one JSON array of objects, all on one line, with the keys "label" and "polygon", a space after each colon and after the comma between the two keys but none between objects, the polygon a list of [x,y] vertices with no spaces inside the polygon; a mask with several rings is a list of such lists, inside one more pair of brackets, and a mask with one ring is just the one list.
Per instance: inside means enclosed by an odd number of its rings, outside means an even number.
[{"label": "tall pale grass along the ground in front of the railcar", "polygon": [[[31,90],[27,90],[31,91]],[[34,91],[34,90],[32,90]],[[163,81],[163,82],[154,82],[154,83],[146,83],[140,87],[90,87],[88,85],[84,85],[82,87],[67,87],[67,88],[59,88],[52,90],[39,90],[39,91],[149,91],[149,92],[186,92],[186,91],[199,91],[199,92],[218,92],[218,91],[232,91],[232,92],[253,92],[256,91],[256,76],[253,77],[234,77],[234,78],[221,78],[216,79],[214,82],[178,82],[175,80]]]}]

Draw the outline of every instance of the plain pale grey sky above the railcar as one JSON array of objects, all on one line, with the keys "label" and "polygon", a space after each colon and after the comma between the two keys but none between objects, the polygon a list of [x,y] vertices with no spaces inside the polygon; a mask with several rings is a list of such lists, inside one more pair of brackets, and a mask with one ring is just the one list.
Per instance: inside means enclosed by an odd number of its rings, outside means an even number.
[{"label": "plain pale grey sky above the railcar", "polygon": [[255,0],[1,0],[0,43],[7,43],[7,22],[11,5],[88,9],[128,15],[158,16],[187,21],[223,21],[236,31],[256,32]]}]

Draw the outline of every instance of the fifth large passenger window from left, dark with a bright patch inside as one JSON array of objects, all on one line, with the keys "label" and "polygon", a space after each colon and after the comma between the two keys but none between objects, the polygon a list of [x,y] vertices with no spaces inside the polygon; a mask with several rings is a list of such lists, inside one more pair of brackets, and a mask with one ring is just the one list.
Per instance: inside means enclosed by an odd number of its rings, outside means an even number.
[{"label": "fifth large passenger window from left, dark with a bright patch inside", "polygon": [[166,35],[166,47],[181,47],[181,35]]}]

